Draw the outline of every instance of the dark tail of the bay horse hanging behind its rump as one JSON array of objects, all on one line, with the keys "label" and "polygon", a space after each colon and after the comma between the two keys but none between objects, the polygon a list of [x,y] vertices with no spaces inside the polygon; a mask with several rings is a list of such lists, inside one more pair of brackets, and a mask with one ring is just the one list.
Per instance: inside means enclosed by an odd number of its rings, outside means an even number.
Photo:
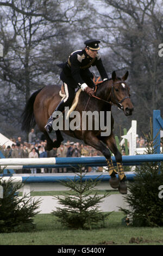
[{"label": "dark tail of the bay horse hanging behind its rump", "polygon": [[22,117],[22,127],[21,127],[22,131],[29,132],[30,129],[32,129],[36,125],[34,112],[33,112],[33,106],[34,106],[34,101],[36,99],[36,96],[37,96],[38,93],[40,93],[41,90],[42,90],[42,88],[37,90],[36,92],[34,92],[30,96],[29,100],[26,103],[24,111],[21,115],[21,117]]}]

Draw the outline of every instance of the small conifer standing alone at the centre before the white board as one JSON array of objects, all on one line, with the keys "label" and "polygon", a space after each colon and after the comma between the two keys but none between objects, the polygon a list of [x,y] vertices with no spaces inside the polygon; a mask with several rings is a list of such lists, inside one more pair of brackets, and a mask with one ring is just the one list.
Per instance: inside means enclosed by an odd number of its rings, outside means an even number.
[{"label": "small conifer standing alone at the centre before the white board", "polygon": [[109,193],[99,195],[96,192],[92,195],[92,191],[101,182],[101,175],[95,180],[87,179],[85,175],[82,174],[82,166],[80,166],[74,180],[61,181],[62,185],[70,188],[70,191],[65,192],[65,196],[54,197],[64,208],[58,207],[52,214],[69,228],[91,230],[99,222],[104,224],[104,220],[110,215],[99,211],[98,206],[102,199],[109,196]]}]

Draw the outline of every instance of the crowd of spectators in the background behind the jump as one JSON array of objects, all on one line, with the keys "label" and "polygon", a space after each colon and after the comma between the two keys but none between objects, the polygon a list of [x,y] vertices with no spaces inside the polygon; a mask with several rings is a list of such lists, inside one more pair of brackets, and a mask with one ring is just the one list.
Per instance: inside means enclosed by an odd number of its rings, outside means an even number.
[{"label": "crowd of spectators in the background behind the jump", "polygon": [[[41,137],[36,137],[34,129],[28,134],[28,142],[22,141],[21,136],[17,139],[10,139],[13,144],[8,147],[1,146],[1,153],[5,158],[38,158],[38,157],[82,157],[82,156],[102,156],[102,153],[89,145],[81,143],[74,143],[67,141],[61,143],[59,148],[53,148],[52,150],[46,150],[46,140]],[[146,147],[145,139],[142,136],[136,138],[136,147]],[[122,154],[125,152],[122,147]],[[93,168],[85,168],[85,172],[90,172]],[[20,169],[15,170],[15,173],[66,173],[73,172],[72,168],[32,168],[32,169]]]}]

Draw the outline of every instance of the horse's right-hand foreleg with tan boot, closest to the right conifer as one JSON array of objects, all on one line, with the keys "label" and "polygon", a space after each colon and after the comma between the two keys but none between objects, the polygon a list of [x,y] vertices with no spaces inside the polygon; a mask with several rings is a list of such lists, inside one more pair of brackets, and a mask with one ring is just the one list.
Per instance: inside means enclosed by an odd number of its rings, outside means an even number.
[{"label": "horse's right-hand foreleg with tan boot, closest to the right conifer", "polygon": [[115,155],[115,159],[117,162],[118,176],[120,179],[118,190],[120,191],[120,193],[126,194],[127,193],[126,175],[124,174],[124,170],[123,170],[122,155],[121,155],[120,151],[118,151],[118,149],[117,149],[115,137],[114,137],[113,133],[111,133],[111,135],[109,137],[103,137],[103,142],[106,143],[108,148]]}]

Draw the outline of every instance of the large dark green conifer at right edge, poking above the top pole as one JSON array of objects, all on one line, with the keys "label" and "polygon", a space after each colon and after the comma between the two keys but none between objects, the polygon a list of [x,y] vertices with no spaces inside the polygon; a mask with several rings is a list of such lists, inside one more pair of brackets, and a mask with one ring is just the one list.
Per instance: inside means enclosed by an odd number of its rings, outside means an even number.
[{"label": "large dark green conifer at right edge, poking above the top pole", "polygon": [[[155,145],[152,132],[146,137],[146,154],[154,154]],[[129,182],[129,194],[125,196],[130,209],[121,210],[131,216],[136,226],[158,227],[163,225],[163,198],[159,197],[159,187],[163,185],[163,164],[145,162],[136,167],[134,182]]]}]

